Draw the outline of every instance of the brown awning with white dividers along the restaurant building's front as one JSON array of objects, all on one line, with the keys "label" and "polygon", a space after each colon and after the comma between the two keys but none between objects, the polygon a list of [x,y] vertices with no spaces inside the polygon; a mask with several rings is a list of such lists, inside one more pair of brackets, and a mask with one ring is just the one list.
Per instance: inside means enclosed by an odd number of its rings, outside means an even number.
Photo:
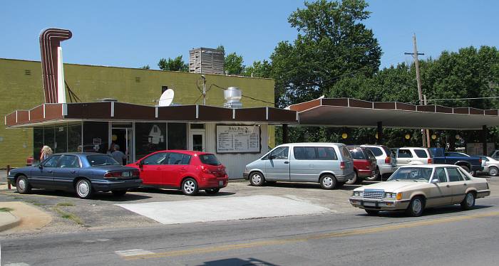
[{"label": "brown awning with white dividers along the restaurant building's front", "polygon": [[17,110],[5,116],[6,127],[36,127],[41,124],[81,120],[298,123],[296,112],[274,107],[241,109],[205,105],[154,107],[125,102],[46,103],[31,110]]}]

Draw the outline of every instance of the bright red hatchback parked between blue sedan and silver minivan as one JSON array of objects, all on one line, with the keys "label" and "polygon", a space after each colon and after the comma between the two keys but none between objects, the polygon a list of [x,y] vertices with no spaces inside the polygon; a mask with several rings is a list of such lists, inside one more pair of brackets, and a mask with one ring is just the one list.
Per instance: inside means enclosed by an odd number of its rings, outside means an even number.
[{"label": "bright red hatchback parked between blue sedan and silver minivan", "polygon": [[217,157],[202,151],[156,151],[127,166],[139,169],[143,186],[181,189],[185,195],[215,194],[229,180]]}]

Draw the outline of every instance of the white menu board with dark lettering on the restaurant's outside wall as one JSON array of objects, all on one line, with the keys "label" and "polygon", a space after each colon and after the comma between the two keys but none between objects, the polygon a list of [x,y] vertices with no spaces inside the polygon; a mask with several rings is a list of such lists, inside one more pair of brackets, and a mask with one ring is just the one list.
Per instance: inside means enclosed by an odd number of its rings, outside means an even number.
[{"label": "white menu board with dark lettering on the restaurant's outside wall", "polygon": [[260,127],[217,125],[217,153],[260,152]]}]

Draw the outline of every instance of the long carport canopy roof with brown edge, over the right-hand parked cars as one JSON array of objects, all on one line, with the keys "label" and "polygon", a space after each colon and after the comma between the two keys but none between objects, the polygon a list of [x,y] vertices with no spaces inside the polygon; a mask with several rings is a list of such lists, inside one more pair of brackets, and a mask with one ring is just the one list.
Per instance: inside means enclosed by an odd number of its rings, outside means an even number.
[{"label": "long carport canopy roof with brown edge, over the right-hand parked cars", "polygon": [[289,106],[299,124],[329,127],[383,127],[414,129],[482,129],[499,126],[498,110],[401,102],[367,102],[351,98],[319,98]]}]

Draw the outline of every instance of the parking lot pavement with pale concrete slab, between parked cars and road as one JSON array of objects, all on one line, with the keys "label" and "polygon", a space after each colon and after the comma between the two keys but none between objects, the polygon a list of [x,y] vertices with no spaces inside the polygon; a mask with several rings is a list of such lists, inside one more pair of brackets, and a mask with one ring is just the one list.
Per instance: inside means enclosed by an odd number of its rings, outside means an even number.
[{"label": "parking lot pavement with pale concrete slab, between parked cars and road", "polygon": [[[492,191],[490,197],[499,197],[499,178],[488,178],[488,181]],[[362,184],[369,182],[364,181]],[[361,212],[348,201],[351,191],[359,186],[361,185],[346,185],[339,189],[324,190],[318,183],[277,182],[269,186],[254,187],[249,186],[248,181],[231,180],[226,188],[215,195],[200,191],[197,196],[185,196],[181,191],[140,188],[123,197],[113,196],[112,193],[96,193],[93,198],[84,200],[77,198],[74,193],[41,189],[23,195],[17,193],[15,188],[6,189],[4,185],[0,189],[0,201],[27,203],[51,215],[52,220],[43,228],[14,228],[1,234],[9,236],[143,227],[161,223]],[[477,204],[479,202],[480,200]],[[143,203],[147,203],[143,206],[157,206],[157,210],[165,211],[153,216],[151,213],[155,212],[154,209],[140,211],[140,208],[134,207]],[[239,215],[235,215],[237,213]],[[165,220],[167,217],[169,218]]]}]

